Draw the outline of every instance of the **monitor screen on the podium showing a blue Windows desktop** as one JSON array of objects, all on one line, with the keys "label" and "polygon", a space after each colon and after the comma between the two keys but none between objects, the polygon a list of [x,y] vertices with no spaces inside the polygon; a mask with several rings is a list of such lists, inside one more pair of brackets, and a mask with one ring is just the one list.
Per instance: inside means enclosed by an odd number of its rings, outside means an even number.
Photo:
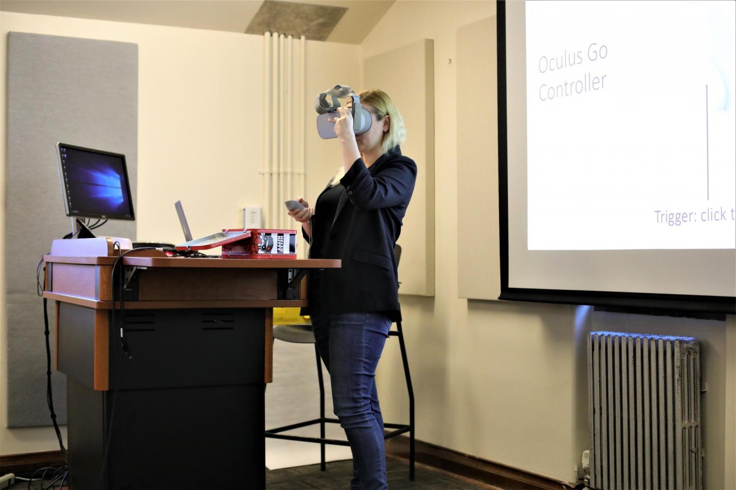
[{"label": "monitor screen on the podium showing a blue Windows desktop", "polygon": [[134,220],[125,156],[57,143],[66,215]]}]

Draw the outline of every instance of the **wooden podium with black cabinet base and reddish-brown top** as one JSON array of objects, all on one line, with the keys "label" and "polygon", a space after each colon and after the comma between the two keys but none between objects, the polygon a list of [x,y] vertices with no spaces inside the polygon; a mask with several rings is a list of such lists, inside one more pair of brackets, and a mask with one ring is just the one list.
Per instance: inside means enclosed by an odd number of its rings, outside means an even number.
[{"label": "wooden podium with black cabinet base and reddish-brown top", "polygon": [[107,490],[265,488],[272,308],[305,306],[306,271],[340,261],[124,256],[129,359],[117,251],[93,240],[60,255],[83,242],[64,240],[44,258],[56,369],[67,378],[71,489],[96,489],[101,475]]}]

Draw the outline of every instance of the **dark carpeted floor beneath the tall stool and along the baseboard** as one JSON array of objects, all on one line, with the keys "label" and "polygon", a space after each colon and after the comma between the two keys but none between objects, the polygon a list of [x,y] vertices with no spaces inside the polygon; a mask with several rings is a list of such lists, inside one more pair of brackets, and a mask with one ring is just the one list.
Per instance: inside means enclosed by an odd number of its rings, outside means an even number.
[{"label": "dark carpeted floor beneath the tall stool and along the baseboard", "polygon": [[[319,471],[319,464],[274,471],[266,470],[266,487],[268,490],[347,490],[350,489],[352,473],[353,461],[333,461],[327,464],[325,472]],[[394,458],[386,458],[386,476],[391,490],[488,490],[494,488],[420,465],[416,467],[414,481],[409,481],[408,463]],[[48,483],[50,482],[47,480],[46,484],[40,486],[40,482],[33,482],[31,489],[44,489]],[[9,488],[12,490],[27,489],[28,482],[19,481]],[[57,488],[58,486],[54,487],[54,489]],[[185,487],[177,486],[176,488],[184,489]],[[242,487],[243,490],[247,488],[247,485]]]}]

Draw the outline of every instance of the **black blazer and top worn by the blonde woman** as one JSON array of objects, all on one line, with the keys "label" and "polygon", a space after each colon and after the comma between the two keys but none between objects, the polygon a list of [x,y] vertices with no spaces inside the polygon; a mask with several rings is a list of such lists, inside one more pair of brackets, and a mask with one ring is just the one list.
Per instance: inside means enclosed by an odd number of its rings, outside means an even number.
[{"label": "black blazer and top worn by the blonde woman", "polygon": [[[311,243],[311,251],[323,251],[320,258],[342,260],[340,269],[319,271],[319,289],[310,289],[309,299],[317,300],[319,313],[387,311],[392,320],[401,320],[394,245],[416,179],[417,164],[398,146],[370,168],[363,159],[355,160],[345,173],[328,242],[314,237]],[[312,219],[319,220],[319,213]]]}]

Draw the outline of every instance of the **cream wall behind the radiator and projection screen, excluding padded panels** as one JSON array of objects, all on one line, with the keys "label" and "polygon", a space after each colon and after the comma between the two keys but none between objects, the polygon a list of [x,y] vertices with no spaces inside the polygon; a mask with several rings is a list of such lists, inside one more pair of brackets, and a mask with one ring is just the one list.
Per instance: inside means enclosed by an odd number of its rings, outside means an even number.
[{"label": "cream wall behind the radiator and projection screen, excluding padded panels", "polygon": [[[372,57],[434,39],[436,291],[434,298],[400,298],[417,439],[573,482],[573,468],[589,437],[587,332],[688,334],[703,342],[703,379],[708,383],[703,402],[705,483],[711,489],[736,488],[734,317],[726,323],[601,313],[586,306],[458,299],[456,252],[443,243],[445,237],[457,236],[462,192],[456,107],[468,104],[472,110],[473,94],[457,90],[456,30],[490,16],[495,16],[495,1],[398,0],[361,45],[362,55]],[[497,199],[497,191],[489,189],[488,198]],[[387,422],[408,422],[401,372],[398,347],[389,340],[377,378]]]}]

